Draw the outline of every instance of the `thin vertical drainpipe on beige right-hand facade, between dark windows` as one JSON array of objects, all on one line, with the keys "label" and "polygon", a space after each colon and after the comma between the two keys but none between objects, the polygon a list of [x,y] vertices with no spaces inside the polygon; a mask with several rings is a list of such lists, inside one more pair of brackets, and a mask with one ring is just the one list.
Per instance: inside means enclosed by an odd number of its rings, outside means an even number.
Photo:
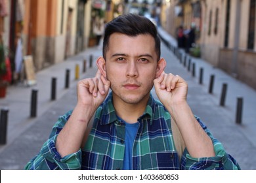
[{"label": "thin vertical drainpipe on beige right-hand facade, between dark windows", "polygon": [[236,25],[234,32],[234,49],[232,54],[232,76],[238,77],[238,52],[239,52],[239,38],[240,38],[240,14],[241,14],[241,0],[236,0]]}]

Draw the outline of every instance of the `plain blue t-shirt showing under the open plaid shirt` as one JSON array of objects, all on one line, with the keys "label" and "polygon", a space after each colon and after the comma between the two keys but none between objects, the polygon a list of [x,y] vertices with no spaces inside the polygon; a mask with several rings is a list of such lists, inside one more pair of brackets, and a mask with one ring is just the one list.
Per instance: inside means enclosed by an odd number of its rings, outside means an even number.
[{"label": "plain blue t-shirt showing under the open plaid shirt", "polygon": [[125,155],[123,157],[123,169],[133,169],[133,143],[139,129],[139,122],[135,124],[129,124],[117,117],[119,120],[125,123]]}]

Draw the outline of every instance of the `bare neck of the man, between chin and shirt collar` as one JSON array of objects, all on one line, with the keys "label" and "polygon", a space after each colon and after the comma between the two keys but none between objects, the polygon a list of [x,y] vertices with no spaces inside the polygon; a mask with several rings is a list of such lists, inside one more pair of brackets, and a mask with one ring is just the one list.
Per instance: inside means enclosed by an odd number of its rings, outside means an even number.
[{"label": "bare neck of the man, between chin and shirt collar", "polygon": [[149,97],[150,94],[148,93],[139,103],[126,103],[113,93],[113,105],[117,116],[129,124],[137,123],[138,118],[142,116],[145,111]]}]

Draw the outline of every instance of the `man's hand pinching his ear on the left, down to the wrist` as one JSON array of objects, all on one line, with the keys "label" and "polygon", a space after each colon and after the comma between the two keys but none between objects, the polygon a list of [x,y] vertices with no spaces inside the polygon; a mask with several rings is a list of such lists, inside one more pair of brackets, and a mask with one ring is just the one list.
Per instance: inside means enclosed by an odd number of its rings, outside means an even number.
[{"label": "man's hand pinching his ear on the left, down to the wrist", "polygon": [[96,110],[108,95],[109,89],[110,81],[106,80],[98,70],[95,78],[86,78],[78,82],[77,105]]}]

